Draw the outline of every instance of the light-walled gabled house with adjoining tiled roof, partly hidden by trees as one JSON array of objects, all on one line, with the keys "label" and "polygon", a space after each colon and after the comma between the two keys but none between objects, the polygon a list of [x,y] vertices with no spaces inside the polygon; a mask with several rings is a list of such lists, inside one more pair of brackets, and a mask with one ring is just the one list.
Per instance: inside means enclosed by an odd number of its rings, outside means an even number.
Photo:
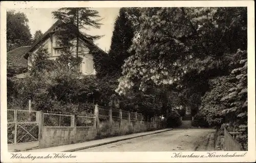
[{"label": "light-walled gabled house with adjoining tiled roof, partly hidden by trees", "polygon": [[[19,71],[16,75],[17,77],[23,78],[25,76],[25,71],[32,65],[34,56],[40,47],[44,47],[48,50],[50,54],[49,59],[51,60],[55,60],[59,55],[61,55],[63,47],[59,43],[60,38],[58,38],[59,35],[57,33],[61,30],[63,31],[62,23],[65,22],[57,20],[51,28],[31,46],[22,46],[7,52],[7,60],[12,67],[23,69],[23,71]],[[75,30],[69,32],[75,33]],[[78,36],[78,49],[80,51],[79,57],[82,58],[82,63],[79,65],[79,71],[84,75],[95,75],[96,70],[93,63],[93,54],[90,53],[90,51],[98,50],[105,54],[106,52],[100,49],[96,44],[88,39],[87,36],[84,36],[80,32]],[[74,40],[76,40],[76,38]],[[76,48],[71,47],[70,49],[72,55],[76,56]]]}]

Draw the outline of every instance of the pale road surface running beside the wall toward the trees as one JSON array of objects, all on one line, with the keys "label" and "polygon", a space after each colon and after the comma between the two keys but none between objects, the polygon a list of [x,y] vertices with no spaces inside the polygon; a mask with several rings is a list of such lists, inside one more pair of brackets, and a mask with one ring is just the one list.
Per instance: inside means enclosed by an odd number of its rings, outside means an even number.
[{"label": "pale road surface running beside the wall toward the trees", "polygon": [[76,152],[214,151],[214,129],[174,129]]}]

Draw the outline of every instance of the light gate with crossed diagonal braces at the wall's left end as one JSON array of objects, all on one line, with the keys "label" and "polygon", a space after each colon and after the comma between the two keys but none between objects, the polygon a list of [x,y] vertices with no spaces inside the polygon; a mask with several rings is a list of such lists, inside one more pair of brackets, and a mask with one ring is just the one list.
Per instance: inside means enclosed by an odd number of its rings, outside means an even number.
[{"label": "light gate with crossed diagonal braces at the wall's left end", "polygon": [[39,146],[39,112],[7,110],[7,122],[8,151]]}]

